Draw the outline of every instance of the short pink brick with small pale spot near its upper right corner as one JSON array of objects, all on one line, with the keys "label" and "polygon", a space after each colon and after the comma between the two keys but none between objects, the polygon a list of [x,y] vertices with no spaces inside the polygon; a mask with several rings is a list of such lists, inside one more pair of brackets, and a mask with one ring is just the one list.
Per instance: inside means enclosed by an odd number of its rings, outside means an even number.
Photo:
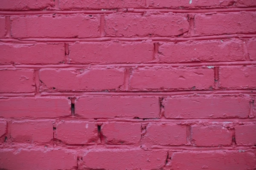
[{"label": "short pink brick with small pale spot near its upper right corner", "polygon": [[63,121],[56,127],[56,138],[66,144],[93,144],[98,140],[97,124]]}]

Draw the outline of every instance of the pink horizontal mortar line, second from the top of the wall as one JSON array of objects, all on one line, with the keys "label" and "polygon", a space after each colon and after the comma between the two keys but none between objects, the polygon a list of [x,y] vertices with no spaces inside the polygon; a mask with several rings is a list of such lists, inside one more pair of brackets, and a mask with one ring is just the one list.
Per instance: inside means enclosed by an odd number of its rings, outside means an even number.
[{"label": "pink horizontal mortar line, second from the top of the wall", "polygon": [[95,37],[95,38],[2,38],[0,42],[35,43],[35,42],[102,42],[102,41],[170,41],[219,40],[229,38],[253,38],[256,34],[197,35],[194,37]]}]

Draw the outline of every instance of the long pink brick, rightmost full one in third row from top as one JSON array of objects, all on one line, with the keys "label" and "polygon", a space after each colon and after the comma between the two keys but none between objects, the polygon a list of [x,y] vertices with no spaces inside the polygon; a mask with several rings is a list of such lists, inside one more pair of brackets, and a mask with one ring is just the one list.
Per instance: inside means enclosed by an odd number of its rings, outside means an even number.
[{"label": "long pink brick, rightmost full one in third row from top", "polygon": [[162,62],[222,62],[245,60],[241,40],[167,42],[159,46]]}]

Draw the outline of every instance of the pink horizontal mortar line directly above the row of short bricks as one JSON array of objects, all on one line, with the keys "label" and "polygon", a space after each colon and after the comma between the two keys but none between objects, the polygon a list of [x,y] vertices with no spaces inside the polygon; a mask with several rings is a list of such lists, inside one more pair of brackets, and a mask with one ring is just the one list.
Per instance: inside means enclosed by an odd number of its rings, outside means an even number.
[{"label": "pink horizontal mortar line directly above the row of short bricks", "polygon": [[214,119],[181,119],[181,118],[146,118],[146,119],[133,119],[133,118],[83,118],[83,117],[76,117],[76,116],[70,116],[70,117],[56,117],[56,118],[49,118],[49,117],[40,117],[40,118],[33,118],[33,117],[22,117],[22,118],[4,118],[1,117],[1,120],[13,120],[17,122],[26,122],[26,121],[49,121],[49,122],[55,122],[56,119],[58,120],[65,120],[65,121],[77,121],[77,122],[90,122],[90,123],[96,123],[101,124],[104,122],[132,122],[132,123],[173,123],[173,124],[181,124],[181,125],[201,125],[202,121],[207,121],[214,123],[216,125],[223,125],[223,124],[230,124],[230,123],[237,123],[237,122],[243,122],[243,123],[251,123],[256,122],[256,118],[214,118]]}]

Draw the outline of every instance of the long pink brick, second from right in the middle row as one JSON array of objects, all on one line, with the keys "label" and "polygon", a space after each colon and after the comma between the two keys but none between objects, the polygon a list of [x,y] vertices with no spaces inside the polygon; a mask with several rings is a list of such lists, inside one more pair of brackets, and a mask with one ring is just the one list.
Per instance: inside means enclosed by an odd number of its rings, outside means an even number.
[{"label": "long pink brick, second from right in the middle row", "polygon": [[209,68],[136,68],[130,78],[131,90],[210,89],[214,71]]}]

